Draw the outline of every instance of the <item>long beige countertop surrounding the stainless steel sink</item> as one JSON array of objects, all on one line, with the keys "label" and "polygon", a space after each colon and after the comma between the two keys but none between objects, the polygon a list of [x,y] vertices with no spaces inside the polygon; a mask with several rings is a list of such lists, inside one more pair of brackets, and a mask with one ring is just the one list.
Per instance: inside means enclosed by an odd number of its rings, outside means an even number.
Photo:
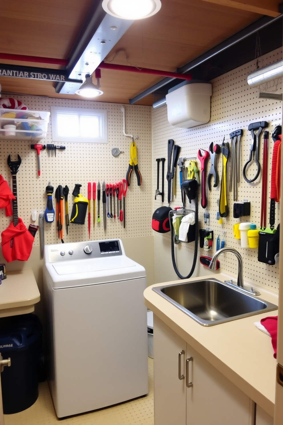
[{"label": "long beige countertop surrounding the stainless steel sink", "polygon": [[[211,277],[175,280],[164,284]],[[224,272],[215,277],[223,282],[230,279]],[[245,281],[246,284],[249,286],[249,282]],[[151,288],[161,285],[158,283],[146,288],[146,306],[269,415],[274,416],[276,359],[273,357],[271,338],[259,331],[254,322],[263,317],[277,316],[278,310],[206,327],[152,291]],[[261,299],[278,305],[277,293],[262,286],[250,285],[261,292]]]}]

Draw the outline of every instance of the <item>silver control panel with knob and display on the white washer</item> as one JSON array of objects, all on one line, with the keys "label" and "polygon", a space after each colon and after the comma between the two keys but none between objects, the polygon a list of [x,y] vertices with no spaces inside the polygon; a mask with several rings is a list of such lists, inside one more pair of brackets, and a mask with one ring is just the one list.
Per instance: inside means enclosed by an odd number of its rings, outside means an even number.
[{"label": "silver control panel with knob and display on the white washer", "polygon": [[64,244],[64,251],[59,244],[49,245],[47,248],[49,263],[123,255],[118,239],[68,243]]}]

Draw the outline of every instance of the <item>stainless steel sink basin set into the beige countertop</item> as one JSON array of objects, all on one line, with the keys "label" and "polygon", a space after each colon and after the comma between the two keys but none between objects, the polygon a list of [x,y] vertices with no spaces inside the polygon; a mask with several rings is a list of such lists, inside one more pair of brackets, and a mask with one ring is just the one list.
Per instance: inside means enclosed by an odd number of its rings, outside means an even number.
[{"label": "stainless steel sink basin set into the beige countertop", "polygon": [[278,308],[214,278],[156,286],[152,290],[203,326],[230,322]]}]

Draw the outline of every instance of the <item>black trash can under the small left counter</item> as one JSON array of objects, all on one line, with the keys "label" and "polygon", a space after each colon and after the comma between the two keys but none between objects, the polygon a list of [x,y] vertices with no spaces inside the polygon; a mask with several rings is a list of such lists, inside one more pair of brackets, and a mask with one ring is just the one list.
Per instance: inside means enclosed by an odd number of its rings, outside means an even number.
[{"label": "black trash can under the small left counter", "polygon": [[11,357],[1,372],[4,414],[21,412],[38,397],[42,326],[35,314],[0,319],[0,352]]}]

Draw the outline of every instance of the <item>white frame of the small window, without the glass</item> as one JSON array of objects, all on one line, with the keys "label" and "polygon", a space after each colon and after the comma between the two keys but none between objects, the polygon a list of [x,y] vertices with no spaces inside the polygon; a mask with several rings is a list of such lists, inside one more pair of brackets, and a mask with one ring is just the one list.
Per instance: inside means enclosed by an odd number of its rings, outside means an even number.
[{"label": "white frame of the small window, without the glass", "polygon": [[[70,137],[70,136],[58,136],[57,128],[57,114],[60,112],[67,113],[70,115],[75,114],[81,116],[98,116],[101,137]],[[107,132],[107,110],[106,109],[91,109],[91,108],[72,108],[68,106],[51,106],[51,125],[52,125],[52,142],[74,142],[74,143],[108,143],[108,132]]]}]

